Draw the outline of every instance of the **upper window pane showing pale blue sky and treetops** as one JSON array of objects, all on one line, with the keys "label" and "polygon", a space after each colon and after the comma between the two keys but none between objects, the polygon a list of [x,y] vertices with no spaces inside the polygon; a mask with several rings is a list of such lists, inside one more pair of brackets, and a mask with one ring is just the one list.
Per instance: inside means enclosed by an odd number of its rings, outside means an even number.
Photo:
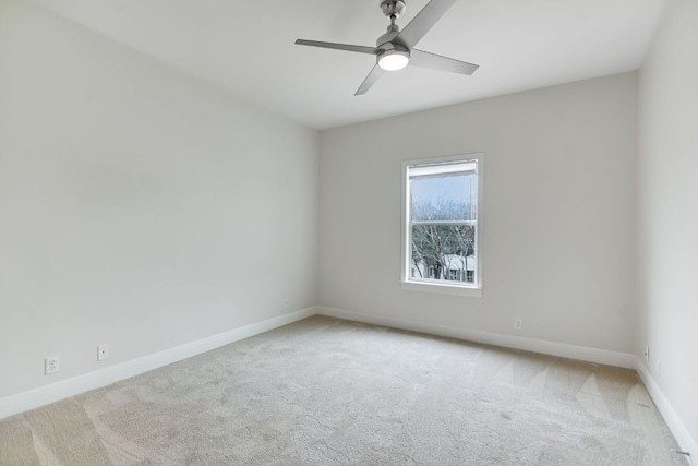
[{"label": "upper window pane showing pale blue sky and treetops", "polygon": [[478,176],[449,175],[410,180],[410,220],[474,220]]}]

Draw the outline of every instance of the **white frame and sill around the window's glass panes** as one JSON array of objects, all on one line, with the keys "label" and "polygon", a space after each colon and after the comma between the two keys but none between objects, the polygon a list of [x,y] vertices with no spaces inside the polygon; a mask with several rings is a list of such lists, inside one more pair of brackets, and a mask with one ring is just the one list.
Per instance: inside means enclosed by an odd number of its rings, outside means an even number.
[{"label": "white frame and sill around the window's glass panes", "polygon": [[[447,172],[448,165],[456,163],[477,163],[478,175],[478,216],[476,224],[476,273],[474,283],[442,282],[429,279],[414,279],[411,277],[411,228],[410,228],[410,195],[409,195],[409,172],[408,168],[421,166],[444,165],[444,172]],[[400,198],[401,206],[401,231],[400,231],[400,287],[410,291],[436,292],[442,295],[457,295],[468,297],[482,297],[482,225],[483,225],[483,192],[484,192],[484,154],[464,154],[447,157],[421,158],[417,160],[402,162],[402,193]]]}]

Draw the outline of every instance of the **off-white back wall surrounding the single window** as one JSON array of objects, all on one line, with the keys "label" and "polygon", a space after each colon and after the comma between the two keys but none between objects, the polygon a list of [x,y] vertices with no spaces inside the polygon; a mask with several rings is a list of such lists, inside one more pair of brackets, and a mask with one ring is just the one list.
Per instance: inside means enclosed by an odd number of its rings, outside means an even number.
[{"label": "off-white back wall surrounding the single window", "polygon": [[[633,353],[636,93],[627,73],[323,131],[320,304]],[[400,162],[474,152],[484,296],[401,290]]]}]

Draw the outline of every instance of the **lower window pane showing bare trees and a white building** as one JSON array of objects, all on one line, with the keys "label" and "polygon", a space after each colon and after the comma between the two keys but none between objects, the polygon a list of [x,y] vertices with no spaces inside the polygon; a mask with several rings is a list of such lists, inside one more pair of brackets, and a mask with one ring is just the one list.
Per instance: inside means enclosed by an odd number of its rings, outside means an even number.
[{"label": "lower window pane showing bare trees and a white building", "polygon": [[412,278],[474,283],[474,227],[413,225],[411,228]]}]

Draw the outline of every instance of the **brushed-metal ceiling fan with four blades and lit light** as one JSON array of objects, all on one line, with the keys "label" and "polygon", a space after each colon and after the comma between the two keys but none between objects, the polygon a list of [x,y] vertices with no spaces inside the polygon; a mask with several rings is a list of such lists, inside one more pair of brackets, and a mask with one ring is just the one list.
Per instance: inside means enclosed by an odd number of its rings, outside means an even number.
[{"label": "brushed-metal ceiling fan with four blades and lit light", "polygon": [[402,31],[395,21],[405,12],[404,0],[382,0],[381,11],[390,20],[387,33],[378,37],[375,47],[354,46],[347,44],[322,43],[317,40],[298,39],[301,46],[333,48],[337,50],[354,51],[376,56],[376,64],[357,89],[354,95],[365,94],[385,71],[401,70],[411,64],[413,67],[431,68],[459,74],[472,74],[477,64],[442,57],[413,48],[424,37],[424,34],[446,13],[457,0],[431,0],[426,7]]}]

